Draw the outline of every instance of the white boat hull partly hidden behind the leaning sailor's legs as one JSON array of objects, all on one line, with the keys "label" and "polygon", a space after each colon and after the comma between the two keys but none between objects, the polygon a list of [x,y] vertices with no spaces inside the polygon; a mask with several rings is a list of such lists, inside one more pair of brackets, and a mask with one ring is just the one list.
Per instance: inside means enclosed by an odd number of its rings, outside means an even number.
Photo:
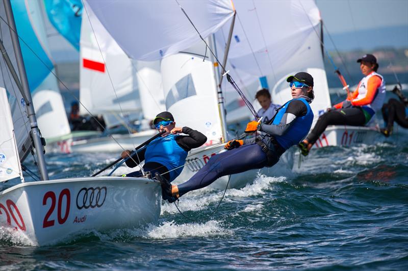
[{"label": "white boat hull partly hidden behind the leaning sailor's legs", "polygon": [[[174,180],[174,184],[189,180],[200,168],[207,164],[212,156],[224,151],[223,144],[203,146],[192,150],[186,159],[186,165],[184,166],[182,173]],[[259,174],[264,174],[266,176],[286,176],[292,171],[293,156],[294,151],[291,148],[282,155],[279,162],[273,167],[253,169],[240,174],[234,174],[231,176],[229,183],[228,178],[230,178],[230,176],[223,176],[213,182],[210,187],[214,189],[225,189],[225,186],[228,183],[228,188],[242,188],[246,184],[252,183]]]}]

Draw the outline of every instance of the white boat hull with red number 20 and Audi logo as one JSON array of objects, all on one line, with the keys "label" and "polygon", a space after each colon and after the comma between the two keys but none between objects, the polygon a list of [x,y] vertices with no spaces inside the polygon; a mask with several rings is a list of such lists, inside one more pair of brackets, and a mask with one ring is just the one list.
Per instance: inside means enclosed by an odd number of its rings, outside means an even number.
[{"label": "white boat hull with red number 20 and Audi logo", "polygon": [[121,177],[21,183],[0,192],[0,226],[33,245],[93,229],[139,227],[159,218],[160,189],[150,179]]}]

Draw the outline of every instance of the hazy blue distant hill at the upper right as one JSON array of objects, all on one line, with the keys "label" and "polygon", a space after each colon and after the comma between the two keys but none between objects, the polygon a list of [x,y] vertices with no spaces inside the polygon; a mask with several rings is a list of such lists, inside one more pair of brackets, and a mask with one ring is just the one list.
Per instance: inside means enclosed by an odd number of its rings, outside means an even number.
[{"label": "hazy blue distant hill at the upper right", "polygon": [[[330,30],[329,30],[330,31]],[[331,34],[340,51],[373,50],[377,47],[408,48],[408,26],[384,27]],[[328,34],[324,32],[327,50],[335,50]]]}]

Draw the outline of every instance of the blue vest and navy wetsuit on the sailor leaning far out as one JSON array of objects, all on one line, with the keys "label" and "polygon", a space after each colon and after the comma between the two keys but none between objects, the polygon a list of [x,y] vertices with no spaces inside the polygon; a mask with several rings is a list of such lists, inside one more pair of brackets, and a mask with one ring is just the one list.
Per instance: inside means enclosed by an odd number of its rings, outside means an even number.
[{"label": "blue vest and navy wetsuit on the sailor leaning far out", "polygon": [[211,157],[190,180],[177,185],[179,195],[206,187],[225,175],[273,166],[289,147],[308,134],[312,121],[313,112],[305,98],[287,102],[276,113],[271,125],[258,126],[259,131],[265,132],[263,135],[247,139],[244,145]]}]

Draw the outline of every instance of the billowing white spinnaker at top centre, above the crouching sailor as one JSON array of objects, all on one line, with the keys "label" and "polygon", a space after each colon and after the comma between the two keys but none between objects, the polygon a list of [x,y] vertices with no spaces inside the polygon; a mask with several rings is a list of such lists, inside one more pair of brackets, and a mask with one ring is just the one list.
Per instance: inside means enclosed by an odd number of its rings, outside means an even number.
[{"label": "billowing white spinnaker at top centre, above the crouching sailor", "polygon": [[[100,22],[133,59],[158,60],[200,37],[175,1],[87,1]],[[179,0],[203,38],[233,16],[230,0]],[[127,30],[127,31],[124,31]]]}]

